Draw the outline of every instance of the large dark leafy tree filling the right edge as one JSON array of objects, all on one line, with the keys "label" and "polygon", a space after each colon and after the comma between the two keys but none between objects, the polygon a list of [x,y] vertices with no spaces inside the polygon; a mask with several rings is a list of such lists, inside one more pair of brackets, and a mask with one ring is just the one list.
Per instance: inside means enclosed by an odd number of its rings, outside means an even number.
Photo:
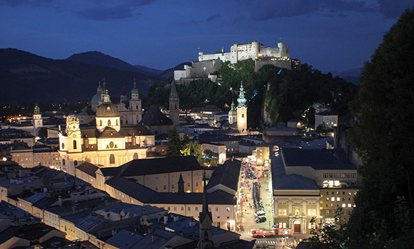
[{"label": "large dark leafy tree filling the right edge", "polygon": [[[363,248],[370,236],[377,248],[408,248],[413,239],[413,23],[413,10],[406,10],[384,35],[359,79],[350,142],[362,157],[363,181],[348,223],[351,237],[359,239],[355,248]],[[397,206],[409,212],[404,227],[397,223]]]}]

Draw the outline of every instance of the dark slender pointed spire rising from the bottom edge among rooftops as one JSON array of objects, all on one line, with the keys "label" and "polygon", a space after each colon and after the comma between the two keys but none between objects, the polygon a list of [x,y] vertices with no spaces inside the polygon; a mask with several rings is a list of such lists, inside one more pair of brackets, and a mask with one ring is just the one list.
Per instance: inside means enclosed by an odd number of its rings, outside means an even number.
[{"label": "dark slender pointed spire rising from the bottom edge among rooftops", "polygon": [[207,201],[207,187],[206,187],[206,175],[203,177],[204,190],[203,190],[203,210],[199,214],[200,223],[200,241],[197,244],[198,249],[213,249],[213,231],[211,224],[213,223],[213,215],[208,211]]}]

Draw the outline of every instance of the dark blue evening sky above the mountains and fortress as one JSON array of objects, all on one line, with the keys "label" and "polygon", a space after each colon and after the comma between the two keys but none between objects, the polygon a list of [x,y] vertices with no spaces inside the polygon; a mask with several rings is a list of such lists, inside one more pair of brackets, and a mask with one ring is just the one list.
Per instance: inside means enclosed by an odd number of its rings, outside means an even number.
[{"label": "dark blue evening sky above the mountains and fortress", "polygon": [[323,71],[359,68],[414,0],[0,0],[0,48],[98,50],[166,69],[233,43],[278,41]]}]

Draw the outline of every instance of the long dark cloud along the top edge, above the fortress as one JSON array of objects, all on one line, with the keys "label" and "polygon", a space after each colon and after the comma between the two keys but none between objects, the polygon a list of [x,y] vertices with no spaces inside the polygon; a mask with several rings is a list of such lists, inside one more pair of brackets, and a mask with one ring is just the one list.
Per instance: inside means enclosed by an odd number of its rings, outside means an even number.
[{"label": "long dark cloud along the top edge, above the fortress", "polygon": [[264,0],[251,1],[241,0],[250,6],[252,18],[258,21],[274,19],[278,17],[295,17],[304,14],[343,14],[345,11],[351,12],[375,12],[376,8],[368,6],[363,1],[345,0]]}]

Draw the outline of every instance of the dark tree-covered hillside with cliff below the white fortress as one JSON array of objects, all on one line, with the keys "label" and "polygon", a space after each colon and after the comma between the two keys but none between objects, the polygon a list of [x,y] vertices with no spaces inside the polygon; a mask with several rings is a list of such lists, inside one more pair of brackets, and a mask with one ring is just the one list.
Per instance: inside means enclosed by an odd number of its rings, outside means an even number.
[{"label": "dark tree-covered hillside with cliff below the white fortress", "polygon": [[[214,104],[229,110],[232,100],[236,102],[240,81],[243,81],[248,99],[248,126],[259,128],[265,123],[272,126],[280,121],[299,118],[316,101],[330,105],[337,114],[344,116],[349,113],[348,103],[356,92],[353,83],[333,77],[330,73],[323,74],[307,64],[302,65],[302,70],[264,66],[259,72],[254,72],[254,61],[248,59],[234,65],[225,62],[218,74],[222,83],[198,79],[178,85],[180,107],[190,109]],[[168,108],[169,92],[169,83],[153,83],[148,88],[144,104]]]}]

